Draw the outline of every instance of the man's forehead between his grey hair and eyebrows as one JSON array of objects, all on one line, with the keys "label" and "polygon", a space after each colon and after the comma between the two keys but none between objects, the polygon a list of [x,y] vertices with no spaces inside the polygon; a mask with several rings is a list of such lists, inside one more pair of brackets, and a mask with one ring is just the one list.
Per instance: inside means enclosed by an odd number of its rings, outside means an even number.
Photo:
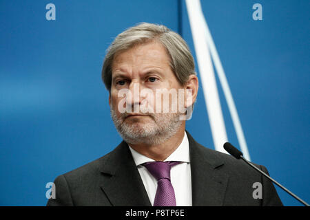
[{"label": "man's forehead between his grey hair and eyebrows", "polygon": [[121,66],[147,67],[169,66],[170,58],[161,43],[152,41],[134,45],[128,50],[117,52],[112,62],[112,71]]}]

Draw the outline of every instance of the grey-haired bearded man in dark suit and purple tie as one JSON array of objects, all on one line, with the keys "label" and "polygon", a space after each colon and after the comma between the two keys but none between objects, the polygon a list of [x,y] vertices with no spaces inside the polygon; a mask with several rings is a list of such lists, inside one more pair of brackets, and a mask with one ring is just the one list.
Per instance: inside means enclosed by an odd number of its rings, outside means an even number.
[{"label": "grey-haired bearded man in dark suit and purple tie", "polygon": [[102,76],[123,142],[57,177],[48,206],[282,206],[268,179],[185,131],[198,78],[178,34],[150,23],[125,30],[107,50]]}]

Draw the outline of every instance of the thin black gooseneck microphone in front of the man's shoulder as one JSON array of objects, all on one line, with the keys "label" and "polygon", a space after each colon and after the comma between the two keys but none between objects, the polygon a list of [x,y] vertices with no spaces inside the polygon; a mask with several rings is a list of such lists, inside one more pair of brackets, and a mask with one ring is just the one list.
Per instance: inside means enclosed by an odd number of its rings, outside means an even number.
[{"label": "thin black gooseneck microphone in front of the man's shoulder", "polygon": [[305,201],[303,201],[302,199],[300,199],[297,195],[293,194],[293,192],[291,192],[290,190],[288,190],[287,188],[285,188],[284,186],[282,186],[281,184],[278,183],[278,181],[272,179],[269,175],[267,175],[266,173],[262,172],[262,170],[260,170],[259,168],[257,168],[256,166],[254,166],[253,164],[251,164],[247,159],[245,159],[245,157],[243,157],[243,154],[241,151],[239,151],[237,148],[235,148],[234,146],[232,146],[229,142],[226,142],[224,144],[224,149],[233,157],[235,157],[236,159],[242,159],[243,161],[245,161],[247,164],[249,164],[249,166],[251,166],[252,168],[254,168],[255,170],[257,170],[259,173],[261,173],[262,175],[264,175],[265,177],[267,177],[269,180],[273,181],[273,183],[277,184],[280,188],[282,188],[282,190],[285,190],[285,192],[289,193],[289,195],[291,195],[292,197],[294,197],[295,199],[297,199],[298,201],[300,201],[300,203],[302,203],[304,206],[309,206],[308,203],[306,203]]}]

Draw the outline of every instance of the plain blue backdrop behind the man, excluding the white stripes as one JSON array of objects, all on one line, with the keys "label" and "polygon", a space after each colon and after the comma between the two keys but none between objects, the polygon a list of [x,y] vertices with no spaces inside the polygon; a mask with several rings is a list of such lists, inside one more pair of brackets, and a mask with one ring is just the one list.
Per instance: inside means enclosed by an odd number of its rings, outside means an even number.
[{"label": "plain blue backdrop behind the man, excluding the white stripes", "polygon": [[[48,3],[56,21],[45,19]],[[254,3],[262,21],[252,19]],[[309,202],[309,1],[201,4],[251,161]],[[45,206],[45,184],[121,142],[101,67],[114,37],[138,22],[167,25],[194,54],[185,1],[0,0],[1,206]],[[214,148],[201,86],[187,130]],[[218,89],[229,141],[238,146]],[[276,188],[286,206],[300,206]]]}]

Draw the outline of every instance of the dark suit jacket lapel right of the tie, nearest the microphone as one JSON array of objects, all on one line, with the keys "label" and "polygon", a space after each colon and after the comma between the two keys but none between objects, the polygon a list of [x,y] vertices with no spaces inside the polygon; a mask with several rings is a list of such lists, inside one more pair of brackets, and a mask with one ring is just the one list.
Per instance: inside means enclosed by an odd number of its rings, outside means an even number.
[{"label": "dark suit jacket lapel right of the tie, nearest the microphone", "polygon": [[228,175],[214,151],[198,144],[187,132],[192,172],[192,205],[223,206]]}]

